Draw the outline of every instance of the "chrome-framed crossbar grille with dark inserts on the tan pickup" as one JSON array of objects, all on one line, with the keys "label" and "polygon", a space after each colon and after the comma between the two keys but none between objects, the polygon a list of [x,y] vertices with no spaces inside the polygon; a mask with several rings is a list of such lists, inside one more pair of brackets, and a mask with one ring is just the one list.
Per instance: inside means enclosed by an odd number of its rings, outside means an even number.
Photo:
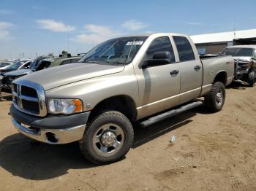
[{"label": "chrome-framed crossbar grille with dark inserts on the tan pickup", "polygon": [[43,117],[47,114],[45,91],[42,86],[27,80],[12,83],[13,104],[21,112]]}]

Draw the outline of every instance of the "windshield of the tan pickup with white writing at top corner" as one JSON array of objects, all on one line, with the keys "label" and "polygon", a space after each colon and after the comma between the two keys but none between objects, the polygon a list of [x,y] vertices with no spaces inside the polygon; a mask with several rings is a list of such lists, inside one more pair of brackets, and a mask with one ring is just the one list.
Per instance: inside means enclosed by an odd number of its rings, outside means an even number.
[{"label": "windshield of the tan pickup with white writing at top corner", "polygon": [[90,50],[78,62],[127,64],[135,58],[147,36],[130,36],[110,39]]}]

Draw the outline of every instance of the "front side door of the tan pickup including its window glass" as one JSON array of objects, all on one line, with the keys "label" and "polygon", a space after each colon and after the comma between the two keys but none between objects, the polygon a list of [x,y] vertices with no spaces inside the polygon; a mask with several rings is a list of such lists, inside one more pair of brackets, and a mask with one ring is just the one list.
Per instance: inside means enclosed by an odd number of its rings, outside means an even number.
[{"label": "front side door of the tan pickup including its window glass", "polygon": [[139,80],[141,106],[138,108],[140,117],[161,112],[179,103],[179,63],[176,63],[169,36],[154,39],[143,60],[152,59],[154,52],[162,51],[170,52],[170,63],[141,69],[142,74],[139,77],[141,79]]}]

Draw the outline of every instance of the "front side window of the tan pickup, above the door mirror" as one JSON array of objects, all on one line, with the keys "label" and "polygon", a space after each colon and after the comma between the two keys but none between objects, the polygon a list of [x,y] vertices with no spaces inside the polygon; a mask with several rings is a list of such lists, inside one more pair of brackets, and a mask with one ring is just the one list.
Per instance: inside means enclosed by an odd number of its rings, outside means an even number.
[{"label": "front side window of the tan pickup, above the door mirror", "polygon": [[170,52],[170,62],[174,63],[174,53],[173,53],[173,47],[170,44],[170,39],[167,36],[161,36],[157,39],[154,39],[153,42],[151,42],[150,46],[148,47],[148,50],[146,52],[146,59],[152,59],[154,52],[163,52],[167,51]]}]

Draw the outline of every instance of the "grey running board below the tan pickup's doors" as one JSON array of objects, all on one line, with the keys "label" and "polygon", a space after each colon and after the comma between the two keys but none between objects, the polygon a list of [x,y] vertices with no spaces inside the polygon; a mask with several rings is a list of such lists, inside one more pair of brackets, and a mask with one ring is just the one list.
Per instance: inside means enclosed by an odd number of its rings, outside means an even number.
[{"label": "grey running board below the tan pickup's doors", "polygon": [[196,101],[196,102],[193,102],[193,103],[190,103],[190,104],[187,104],[185,106],[181,106],[180,108],[178,109],[173,109],[173,110],[170,110],[169,112],[165,112],[165,113],[162,113],[162,114],[159,114],[157,116],[154,116],[154,117],[151,117],[149,118],[148,120],[146,121],[143,121],[143,122],[140,122],[140,126],[142,128],[146,128],[148,127],[149,125],[152,125],[156,122],[159,122],[159,121],[162,121],[162,120],[165,120],[169,117],[173,117],[175,116],[176,114],[180,114],[182,112],[186,112],[187,110],[189,109],[192,109],[192,108],[195,108],[197,106],[200,106],[203,104],[203,101]]}]

